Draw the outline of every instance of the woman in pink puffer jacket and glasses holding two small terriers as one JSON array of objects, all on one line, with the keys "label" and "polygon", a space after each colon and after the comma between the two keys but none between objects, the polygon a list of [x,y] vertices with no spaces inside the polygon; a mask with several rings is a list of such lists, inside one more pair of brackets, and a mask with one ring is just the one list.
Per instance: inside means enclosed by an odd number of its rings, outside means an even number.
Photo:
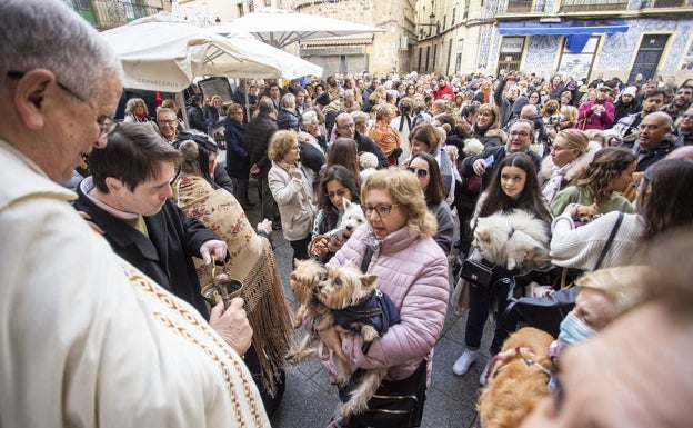
[{"label": "woman in pink puffer jacket and glasses holding two small terriers", "polygon": [[[379,170],[362,186],[361,201],[369,227],[359,228],[328,262],[345,265],[353,260],[365,265],[365,272],[378,277],[378,288],[386,293],[400,312],[400,322],[363,351],[361,335],[331,327],[320,334],[333,352],[323,357],[323,365],[335,375],[337,359],[364,368],[388,368],[388,376],[376,395],[416,394],[406,421],[398,415],[370,410],[349,420],[335,417],[332,427],[419,427],[423,412],[426,384],[430,382],[433,346],[445,320],[449,298],[448,258],[433,240],[438,229],[428,210],[415,177],[401,169]],[[364,257],[371,252],[370,261]],[[365,258],[365,263],[364,263]],[[345,391],[342,391],[345,392]],[[346,400],[349,397],[340,397]],[[388,421],[374,422],[373,417],[388,415]]]}]

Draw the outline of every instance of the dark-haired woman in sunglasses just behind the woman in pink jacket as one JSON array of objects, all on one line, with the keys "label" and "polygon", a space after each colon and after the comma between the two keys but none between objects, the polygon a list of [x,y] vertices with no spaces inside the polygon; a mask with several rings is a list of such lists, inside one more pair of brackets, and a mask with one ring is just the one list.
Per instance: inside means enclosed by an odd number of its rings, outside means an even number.
[{"label": "dark-haired woman in sunglasses just behind the woman in pink jacket", "polygon": [[450,207],[443,200],[443,177],[440,173],[438,161],[430,153],[421,151],[414,155],[406,169],[416,175],[426,207],[438,220],[438,231],[433,239],[445,255],[450,255],[454,222]]}]

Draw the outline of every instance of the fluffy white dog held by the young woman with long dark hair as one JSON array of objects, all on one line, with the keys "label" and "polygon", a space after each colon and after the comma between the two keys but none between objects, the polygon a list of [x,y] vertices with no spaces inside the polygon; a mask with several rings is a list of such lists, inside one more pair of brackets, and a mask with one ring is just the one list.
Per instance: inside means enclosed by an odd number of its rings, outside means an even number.
[{"label": "fluffy white dog held by the young woman with long dark hair", "polygon": [[549,230],[542,220],[523,210],[495,213],[476,220],[472,246],[481,257],[509,270],[535,269],[546,265]]}]

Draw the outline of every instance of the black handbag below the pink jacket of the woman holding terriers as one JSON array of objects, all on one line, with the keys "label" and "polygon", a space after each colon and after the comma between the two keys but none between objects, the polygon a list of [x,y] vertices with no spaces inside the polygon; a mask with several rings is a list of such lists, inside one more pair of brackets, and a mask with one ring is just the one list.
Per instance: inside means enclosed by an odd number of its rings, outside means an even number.
[{"label": "black handbag below the pink jacket of the woman holding terriers", "polygon": [[[352,376],[349,385],[339,391],[342,400],[360,385],[363,370]],[[426,392],[426,361],[414,372],[400,380],[384,380],[368,402],[368,410],[352,415],[339,422],[343,428],[414,428],[421,426]]]}]

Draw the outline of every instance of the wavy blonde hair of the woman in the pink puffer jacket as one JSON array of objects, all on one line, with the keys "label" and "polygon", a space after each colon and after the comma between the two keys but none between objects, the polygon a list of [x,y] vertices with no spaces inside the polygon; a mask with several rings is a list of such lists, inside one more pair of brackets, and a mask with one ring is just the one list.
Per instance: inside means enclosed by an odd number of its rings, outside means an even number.
[{"label": "wavy blonde hair of the woman in the pink puffer jacket", "polygon": [[390,195],[392,203],[398,205],[406,216],[406,226],[414,233],[432,237],[438,232],[438,221],[426,207],[415,175],[395,167],[378,170],[361,185],[361,201],[365,202],[372,189],[384,190]]}]

